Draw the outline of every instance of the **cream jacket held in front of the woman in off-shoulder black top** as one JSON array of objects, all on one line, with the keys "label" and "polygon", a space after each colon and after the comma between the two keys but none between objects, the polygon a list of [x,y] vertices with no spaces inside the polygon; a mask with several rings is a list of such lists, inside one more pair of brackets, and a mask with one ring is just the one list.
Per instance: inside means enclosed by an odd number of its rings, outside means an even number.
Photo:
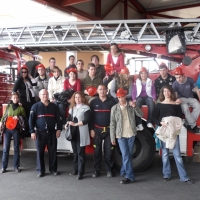
[{"label": "cream jacket held in front of the woman in off-shoulder black top", "polygon": [[179,117],[164,117],[162,119],[167,126],[159,126],[156,130],[157,137],[166,143],[167,149],[173,149],[176,143],[176,137],[180,134],[182,119]]}]

